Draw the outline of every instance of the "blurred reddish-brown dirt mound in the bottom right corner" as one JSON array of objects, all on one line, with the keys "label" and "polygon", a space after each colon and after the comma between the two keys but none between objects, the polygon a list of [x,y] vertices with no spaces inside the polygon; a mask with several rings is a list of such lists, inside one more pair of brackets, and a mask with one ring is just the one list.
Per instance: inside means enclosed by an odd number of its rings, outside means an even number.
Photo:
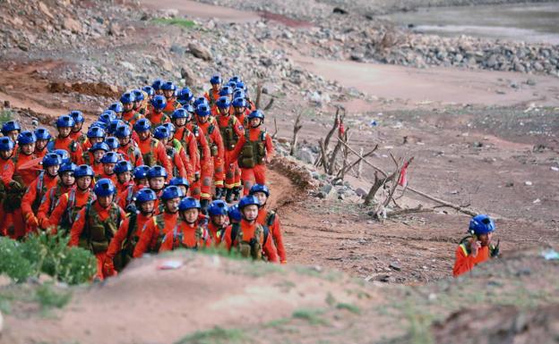
[{"label": "blurred reddish-brown dirt mound in the bottom right corner", "polygon": [[559,336],[559,305],[460,310],[434,325],[433,332],[434,342],[441,344],[552,343]]}]

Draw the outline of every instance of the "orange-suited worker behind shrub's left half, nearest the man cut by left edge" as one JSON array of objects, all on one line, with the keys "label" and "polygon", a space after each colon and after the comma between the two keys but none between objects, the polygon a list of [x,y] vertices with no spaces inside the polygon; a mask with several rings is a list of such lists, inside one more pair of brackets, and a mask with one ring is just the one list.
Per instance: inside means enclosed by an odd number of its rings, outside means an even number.
[{"label": "orange-suited worker behind shrub's left half, nearest the man cut by left edge", "polygon": [[39,219],[37,212],[47,190],[54,187],[58,182],[58,169],[62,164],[62,158],[56,153],[47,153],[43,157],[43,171],[39,177],[30,184],[27,192],[22,198],[22,214],[26,223],[26,232],[37,231]]}]

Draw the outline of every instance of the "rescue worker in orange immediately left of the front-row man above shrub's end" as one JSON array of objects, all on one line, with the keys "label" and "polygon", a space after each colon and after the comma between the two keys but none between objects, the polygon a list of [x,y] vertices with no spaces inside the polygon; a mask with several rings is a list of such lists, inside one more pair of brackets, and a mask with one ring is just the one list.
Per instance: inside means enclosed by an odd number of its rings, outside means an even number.
[{"label": "rescue worker in orange immediately left of the front-row man above shrub's end", "polygon": [[93,169],[89,165],[81,164],[76,167],[73,175],[76,187],[60,197],[50,217],[43,222],[43,225],[53,234],[60,230],[69,235],[80,210],[95,199],[95,194],[91,192],[93,177],[95,177]]}]

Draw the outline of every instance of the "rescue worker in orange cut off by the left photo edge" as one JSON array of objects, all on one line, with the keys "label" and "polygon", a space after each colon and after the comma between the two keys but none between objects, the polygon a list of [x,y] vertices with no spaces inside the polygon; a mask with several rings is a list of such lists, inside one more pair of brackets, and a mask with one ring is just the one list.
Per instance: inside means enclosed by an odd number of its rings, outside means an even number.
[{"label": "rescue worker in orange cut off by the left photo edge", "polygon": [[25,227],[22,221],[14,219],[14,214],[19,214],[20,217],[22,214],[16,211],[19,205],[14,204],[17,200],[13,199],[13,195],[21,195],[24,186],[21,181],[13,179],[15,165],[11,158],[14,147],[11,138],[0,138],[0,235],[20,239],[25,235]]}]

